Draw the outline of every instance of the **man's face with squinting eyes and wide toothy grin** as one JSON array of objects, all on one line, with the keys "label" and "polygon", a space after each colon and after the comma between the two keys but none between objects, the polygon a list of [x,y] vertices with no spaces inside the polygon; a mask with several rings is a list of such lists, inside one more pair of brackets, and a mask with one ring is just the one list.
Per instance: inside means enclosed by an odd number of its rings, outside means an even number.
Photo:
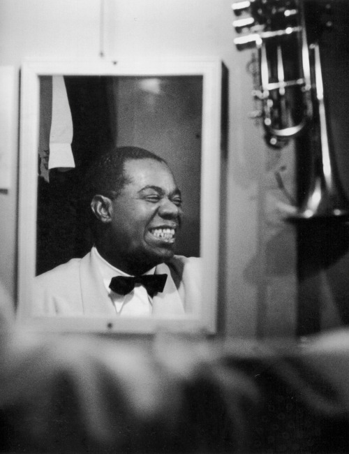
[{"label": "man's face with squinting eyes and wide toothy grin", "polygon": [[126,161],[130,182],[112,200],[112,243],[121,270],[152,268],[174,254],[181,193],[168,166],[153,159]]}]

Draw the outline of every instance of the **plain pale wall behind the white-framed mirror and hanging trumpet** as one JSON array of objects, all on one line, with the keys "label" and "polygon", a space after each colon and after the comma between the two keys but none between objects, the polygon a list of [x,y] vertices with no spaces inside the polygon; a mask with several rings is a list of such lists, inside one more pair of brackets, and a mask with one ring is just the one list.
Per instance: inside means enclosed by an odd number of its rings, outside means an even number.
[{"label": "plain pale wall behind the white-framed mirror and hanging trumpet", "polygon": [[[265,260],[268,242],[280,231],[286,243],[269,247],[272,260],[275,254],[285,256],[294,249],[292,232],[284,233],[280,227],[275,200],[266,197],[268,184],[272,188],[268,194],[274,191],[279,197],[270,177],[272,168],[265,173],[266,163],[279,166],[280,159],[286,158],[267,155],[260,140],[262,131],[248,119],[254,107],[246,71],[251,55],[235,50],[231,0],[105,0],[102,29],[100,4],[96,0],[0,0],[0,64],[19,70],[24,59],[88,59],[98,57],[101,50],[104,58],[113,59],[122,55],[222,59],[229,70],[230,120],[223,163],[221,325],[229,335],[243,337],[257,332],[292,335],[294,258],[285,257],[288,268],[281,275],[277,270],[268,274]],[[15,298],[17,147],[11,151],[13,186],[8,194],[0,194],[0,210],[6,214],[0,222],[0,272]]]}]

